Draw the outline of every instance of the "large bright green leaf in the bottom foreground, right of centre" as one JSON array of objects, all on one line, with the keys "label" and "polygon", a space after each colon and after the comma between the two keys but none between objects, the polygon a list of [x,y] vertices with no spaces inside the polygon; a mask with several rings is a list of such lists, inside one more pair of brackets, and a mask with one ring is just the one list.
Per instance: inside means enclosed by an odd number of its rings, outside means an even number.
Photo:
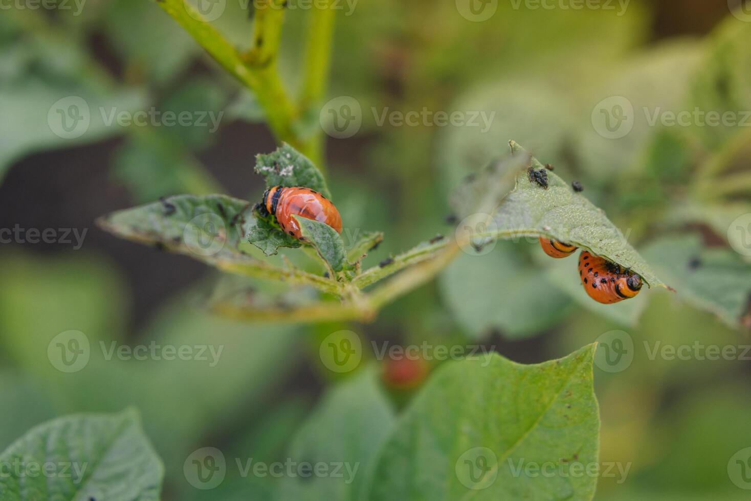
[{"label": "large bright green leaf in the bottom foreground, right of centre", "polygon": [[[594,350],[445,365],[382,447],[368,499],[592,499],[596,476],[567,473],[598,462]],[[553,475],[525,473],[535,466]]]}]

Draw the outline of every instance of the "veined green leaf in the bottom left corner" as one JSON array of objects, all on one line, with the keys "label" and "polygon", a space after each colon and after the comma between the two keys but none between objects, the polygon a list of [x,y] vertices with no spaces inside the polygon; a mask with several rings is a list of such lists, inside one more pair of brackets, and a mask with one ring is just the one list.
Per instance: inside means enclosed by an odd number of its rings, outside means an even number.
[{"label": "veined green leaf in the bottom left corner", "polygon": [[[0,455],[10,475],[0,499],[159,499],[164,466],[134,411],[55,419],[29,431]],[[56,475],[32,468],[54,465]],[[50,466],[47,466],[50,467]],[[8,473],[8,469],[4,473]]]}]

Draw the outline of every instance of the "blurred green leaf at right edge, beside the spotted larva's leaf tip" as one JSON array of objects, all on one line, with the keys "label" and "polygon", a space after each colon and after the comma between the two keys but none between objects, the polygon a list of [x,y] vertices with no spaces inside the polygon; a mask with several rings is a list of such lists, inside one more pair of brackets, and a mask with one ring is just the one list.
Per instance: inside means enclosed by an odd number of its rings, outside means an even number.
[{"label": "blurred green leaf at right edge, beside the spotted larva's leaf tip", "polygon": [[655,266],[676,284],[677,297],[716,314],[737,329],[749,314],[751,266],[727,248],[706,248],[701,236],[665,237],[644,249]]}]

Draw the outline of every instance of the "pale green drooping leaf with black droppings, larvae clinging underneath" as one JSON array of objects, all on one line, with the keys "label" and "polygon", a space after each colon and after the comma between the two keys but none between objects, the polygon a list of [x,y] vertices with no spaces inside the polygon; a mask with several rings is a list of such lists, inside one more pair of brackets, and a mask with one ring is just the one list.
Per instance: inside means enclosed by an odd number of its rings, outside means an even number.
[{"label": "pale green drooping leaf with black droppings, larvae clinging underneath", "polygon": [[[511,141],[514,154],[526,153]],[[575,193],[535,158],[517,175],[516,187],[493,214],[494,228],[488,233],[499,238],[545,236],[618,263],[641,275],[650,287],[668,287],[626,241],[620,229],[580,193]]]}]

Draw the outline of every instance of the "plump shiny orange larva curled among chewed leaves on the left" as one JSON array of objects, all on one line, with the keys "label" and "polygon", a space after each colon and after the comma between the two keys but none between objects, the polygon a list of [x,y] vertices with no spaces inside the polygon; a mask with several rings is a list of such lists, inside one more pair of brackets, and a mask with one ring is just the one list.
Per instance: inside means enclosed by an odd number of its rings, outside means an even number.
[{"label": "plump shiny orange larva curled among chewed leaves on the left", "polygon": [[308,187],[273,186],[266,190],[261,205],[273,214],[285,233],[302,239],[300,225],[293,215],[326,223],[342,233],[342,217],[325,196]]}]

